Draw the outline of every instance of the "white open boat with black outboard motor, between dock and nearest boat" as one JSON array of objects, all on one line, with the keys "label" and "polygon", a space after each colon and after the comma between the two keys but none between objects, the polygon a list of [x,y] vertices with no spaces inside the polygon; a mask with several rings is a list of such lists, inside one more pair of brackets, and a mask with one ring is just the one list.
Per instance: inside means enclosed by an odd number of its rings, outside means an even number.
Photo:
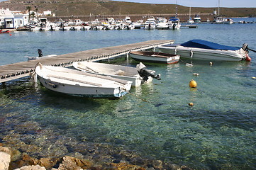
[{"label": "white open boat with black outboard motor, between dock and nearest boat", "polygon": [[[99,62],[74,62],[73,67],[83,72],[133,81],[132,86],[140,86],[141,84],[152,81],[152,78],[157,78],[155,71],[152,70],[148,70],[150,74],[143,74],[141,69],[145,68],[145,65],[142,63],[138,64],[135,68]],[[142,74],[140,74],[140,72],[142,72]]]}]

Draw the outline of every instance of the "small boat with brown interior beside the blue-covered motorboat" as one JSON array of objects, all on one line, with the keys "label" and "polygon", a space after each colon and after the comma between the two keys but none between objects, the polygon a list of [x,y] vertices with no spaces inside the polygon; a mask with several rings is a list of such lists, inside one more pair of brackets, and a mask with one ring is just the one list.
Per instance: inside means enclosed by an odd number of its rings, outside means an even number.
[{"label": "small boat with brown interior beside the blue-covered motorboat", "polygon": [[133,60],[141,62],[159,62],[166,64],[174,64],[179,62],[179,55],[172,55],[162,52],[151,52],[151,51],[131,51],[129,56]]}]

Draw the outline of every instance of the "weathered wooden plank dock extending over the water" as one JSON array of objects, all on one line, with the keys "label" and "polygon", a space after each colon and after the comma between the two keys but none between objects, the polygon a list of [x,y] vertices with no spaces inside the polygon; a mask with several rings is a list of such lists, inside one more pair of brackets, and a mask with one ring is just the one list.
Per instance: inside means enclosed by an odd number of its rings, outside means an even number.
[{"label": "weathered wooden plank dock extending over the water", "polygon": [[28,62],[7,64],[0,66],[0,83],[30,76],[30,74],[34,72],[35,65],[38,62],[45,65],[67,67],[73,62],[106,60],[120,55],[126,55],[132,50],[145,50],[172,42],[174,42],[174,40],[149,40],[128,45],[118,45],[115,47],[103,47],[93,50],[73,52],[54,57],[42,57],[38,58],[38,60],[30,60]]}]

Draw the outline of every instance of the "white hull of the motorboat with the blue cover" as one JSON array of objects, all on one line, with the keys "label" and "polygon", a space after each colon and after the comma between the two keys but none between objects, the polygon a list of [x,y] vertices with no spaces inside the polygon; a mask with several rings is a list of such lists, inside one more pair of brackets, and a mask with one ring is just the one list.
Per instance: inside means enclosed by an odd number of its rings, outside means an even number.
[{"label": "white hull of the motorboat with the blue cover", "polygon": [[180,57],[195,59],[195,60],[218,60],[237,62],[245,59],[245,54],[242,55],[238,51],[233,50],[209,50],[196,47],[183,47],[181,45],[168,45],[156,47],[157,51],[169,54],[177,54]]}]

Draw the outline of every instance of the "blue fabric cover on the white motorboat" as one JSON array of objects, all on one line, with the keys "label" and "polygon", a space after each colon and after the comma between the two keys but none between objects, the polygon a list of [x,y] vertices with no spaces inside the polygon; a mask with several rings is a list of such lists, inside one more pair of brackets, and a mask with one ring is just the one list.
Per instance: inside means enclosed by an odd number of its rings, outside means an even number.
[{"label": "blue fabric cover on the white motorboat", "polygon": [[240,49],[240,47],[220,45],[220,44],[206,41],[206,40],[189,40],[188,42],[184,42],[181,45],[183,47],[197,47],[197,48],[212,49],[212,50],[234,50],[235,51]]}]

